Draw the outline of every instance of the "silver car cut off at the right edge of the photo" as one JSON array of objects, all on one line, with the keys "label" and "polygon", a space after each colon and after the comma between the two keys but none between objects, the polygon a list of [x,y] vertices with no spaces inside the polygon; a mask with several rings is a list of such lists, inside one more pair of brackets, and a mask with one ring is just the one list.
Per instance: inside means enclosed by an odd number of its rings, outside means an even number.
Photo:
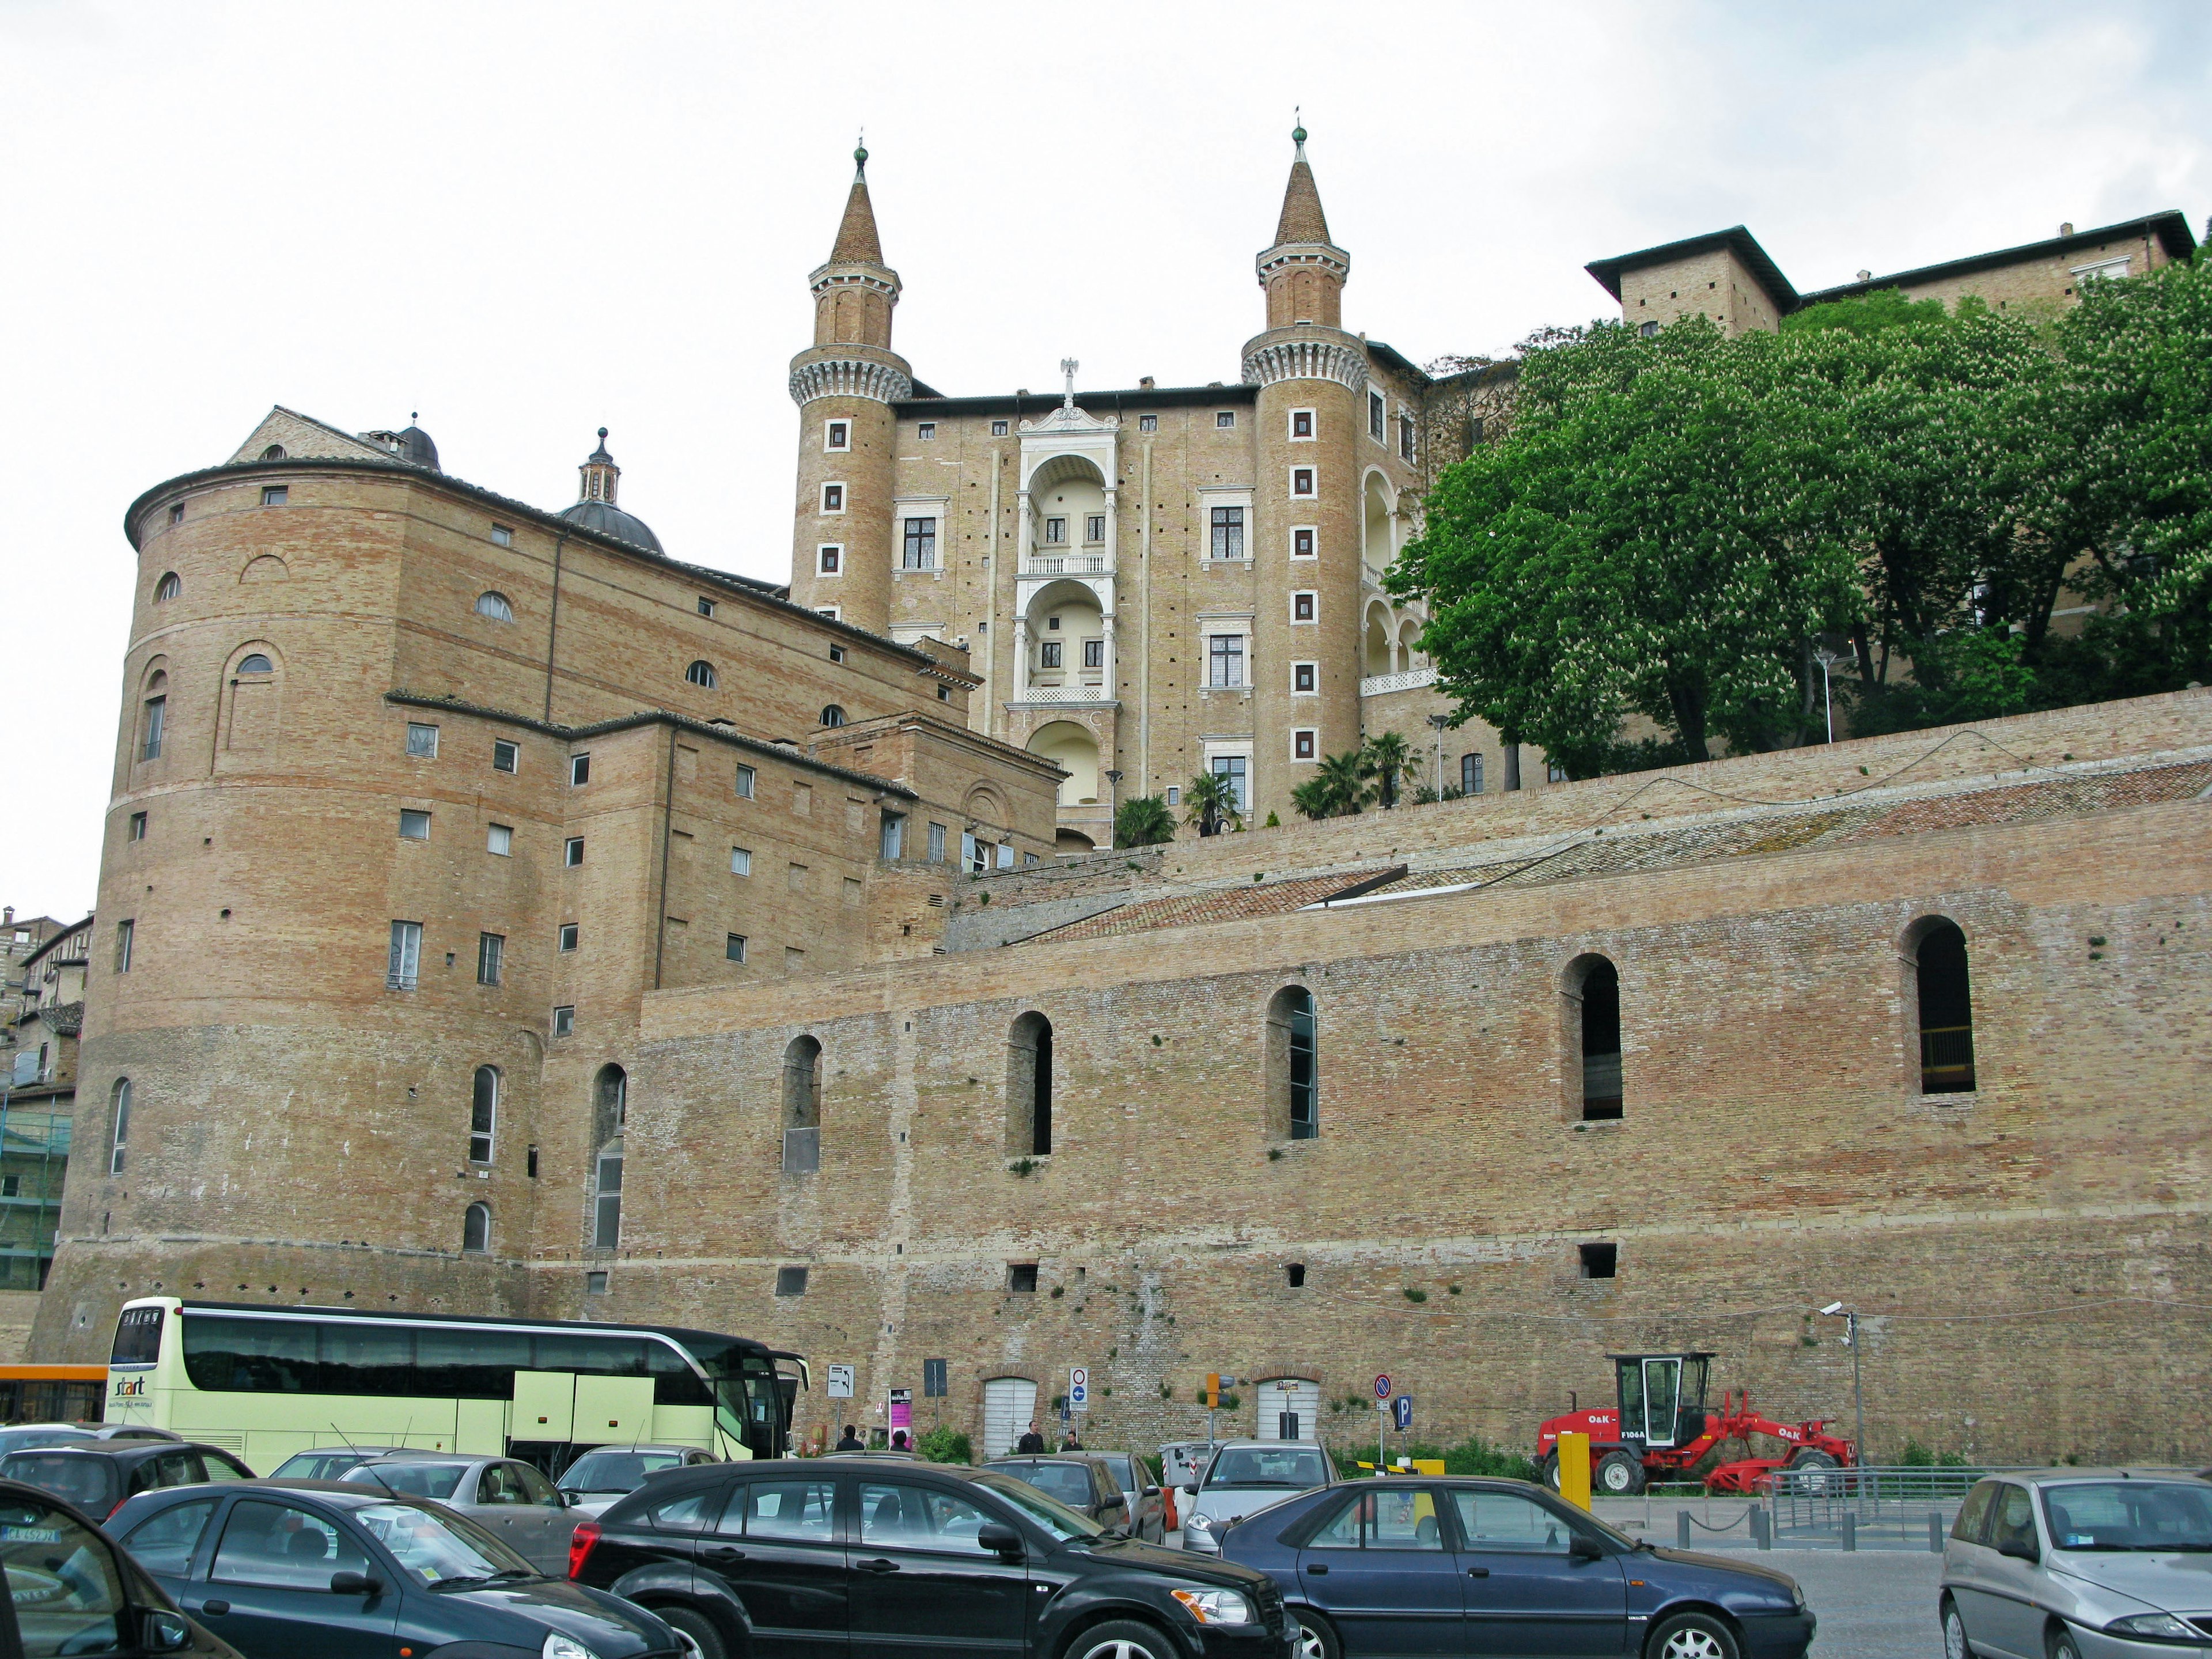
[{"label": "silver car cut off at the right edge of the photo", "polygon": [[2212,1648],[2212,1486],[2126,1469],[1993,1475],[1958,1511],[1947,1659],[2174,1659]]}]

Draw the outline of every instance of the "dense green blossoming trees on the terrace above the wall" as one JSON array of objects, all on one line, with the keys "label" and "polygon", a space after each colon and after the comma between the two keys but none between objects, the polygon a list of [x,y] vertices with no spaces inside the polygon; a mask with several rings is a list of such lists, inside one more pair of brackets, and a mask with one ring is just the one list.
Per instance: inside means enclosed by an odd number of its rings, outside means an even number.
[{"label": "dense green blossoming trees on the terrace above the wall", "polygon": [[1823,657],[1854,730],[2205,677],[2212,268],[1551,332],[1387,582],[1458,717],[1573,776],[1635,765],[1637,714],[1646,763],[1816,739]]}]

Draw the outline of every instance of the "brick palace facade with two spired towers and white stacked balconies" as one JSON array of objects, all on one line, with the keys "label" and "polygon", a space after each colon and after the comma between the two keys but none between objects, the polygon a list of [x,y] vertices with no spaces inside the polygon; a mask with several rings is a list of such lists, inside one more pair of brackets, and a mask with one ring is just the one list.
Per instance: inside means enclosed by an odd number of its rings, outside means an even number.
[{"label": "brick palace facade with two spired towers and white stacked balconies", "polygon": [[[1113,803],[1197,772],[1250,812],[1371,723],[1363,681],[1420,679],[1420,617],[1378,577],[1425,487],[1431,380],[1343,330],[1349,254],[1298,128],[1267,330],[1232,383],[949,398],[891,349],[900,281],[883,259],[867,150],[810,279],[792,597],[900,641],[967,646],[971,723],[1071,776],[1062,852],[1108,845]],[[1380,672],[1378,672],[1380,670]],[[1429,695],[1433,699],[1433,692]],[[1440,708],[1442,703],[1438,703]],[[1418,730],[1427,739],[1427,730]],[[1422,741],[1420,748],[1427,748]]]}]

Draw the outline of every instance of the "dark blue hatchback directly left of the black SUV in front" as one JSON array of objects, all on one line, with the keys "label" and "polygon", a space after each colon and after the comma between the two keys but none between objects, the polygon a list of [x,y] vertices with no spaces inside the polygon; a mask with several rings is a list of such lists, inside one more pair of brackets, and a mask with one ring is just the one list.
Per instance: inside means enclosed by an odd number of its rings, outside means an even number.
[{"label": "dark blue hatchback directly left of the black SUV in front", "polygon": [[246,1659],[688,1659],[644,1608],[542,1575],[427,1498],[254,1480],[142,1493],[106,1531]]}]

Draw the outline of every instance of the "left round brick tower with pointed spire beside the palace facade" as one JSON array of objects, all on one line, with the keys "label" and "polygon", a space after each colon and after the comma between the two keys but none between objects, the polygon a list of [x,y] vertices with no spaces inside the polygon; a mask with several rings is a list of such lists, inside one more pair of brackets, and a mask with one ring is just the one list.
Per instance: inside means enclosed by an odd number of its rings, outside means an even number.
[{"label": "left round brick tower with pointed spire beside the palace facade", "polygon": [[[799,405],[799,500],[792,504],[792,599],[836,608],[869,633],[891,622],[891,458],[900,398],[914,396],[891,349],[898,272],[883,263],[867,199],[867,150],[814,288],[814,345],[792,358]],[[825,553],[834,549],[834,553]]]}]

